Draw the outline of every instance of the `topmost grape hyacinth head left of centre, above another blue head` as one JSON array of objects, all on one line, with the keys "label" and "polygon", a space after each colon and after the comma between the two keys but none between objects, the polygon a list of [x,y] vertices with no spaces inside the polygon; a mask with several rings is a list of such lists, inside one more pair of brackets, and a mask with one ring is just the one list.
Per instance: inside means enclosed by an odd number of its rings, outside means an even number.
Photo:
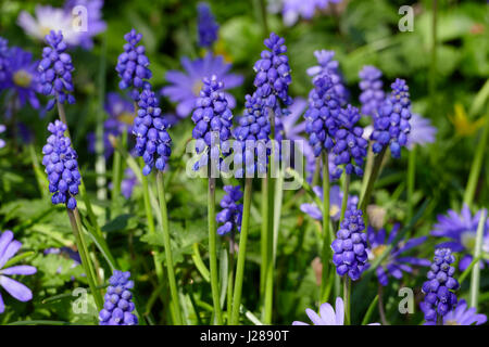
[{"label": "topmost grape hyacinth head left of centre, above another blue head", "polygon": [[124,52],[118,55],[115,67],[118,77],[122,78],[118,88],[124,90],[131,87],[130,98],[134,101],[138,101],[141,89],[150,88],[149,82],[145,79],[150,79],[152,76],[148,68],[149,60],[145,54],[145,46],[137,46],[141,38],[142,34],[136,33],[135,29],[124,35],[127,43],[124,44]]}]

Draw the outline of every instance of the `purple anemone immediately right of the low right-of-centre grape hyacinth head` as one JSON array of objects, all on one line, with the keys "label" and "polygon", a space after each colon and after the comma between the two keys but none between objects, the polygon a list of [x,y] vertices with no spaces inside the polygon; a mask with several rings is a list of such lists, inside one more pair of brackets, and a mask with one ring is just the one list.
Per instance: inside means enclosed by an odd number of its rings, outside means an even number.
[{"label": "purple anemone immediately right of the low right-of-centre grape hyacinth head", "polygon": [[[389,236],[385,229],[375,231],[371,226],[367,227],[367,242],[368,242],[368,265],[379,257],[386,248],[392,244],[396,236],[398,235],[400,224],[397,223],[392,227]],[[413,268],[411,266],[424,266],[429,267],[430,261],[428,259],[419,259],[416,257],[404,256],[403,253],[421,245],[426,241],[426,236],[411,239],[409,241],[400,240],[392,249],[389,252],[385,260],[376,269],[378,282],[386,286],[389,283],[389,275],[400,280],[402,279],[402,273],[412,273]],[[367,265],[367,267],[368,267]]]}]

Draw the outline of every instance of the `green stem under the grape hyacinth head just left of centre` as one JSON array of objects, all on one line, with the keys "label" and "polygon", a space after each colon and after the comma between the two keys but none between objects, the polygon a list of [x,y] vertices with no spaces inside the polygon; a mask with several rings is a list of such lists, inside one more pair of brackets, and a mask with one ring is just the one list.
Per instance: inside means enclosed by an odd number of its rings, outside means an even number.
[{"label": "green stem under the grape hyacinth head just left of centre", "polygon": [[208,184],[208,222],[209,222],[209,260],[211,269],[212,301],[217,325],[223,325],[223,313],[220,304],[220,283],[217,270],[217,247],[215,227],[215,178],[209,176]]}]

